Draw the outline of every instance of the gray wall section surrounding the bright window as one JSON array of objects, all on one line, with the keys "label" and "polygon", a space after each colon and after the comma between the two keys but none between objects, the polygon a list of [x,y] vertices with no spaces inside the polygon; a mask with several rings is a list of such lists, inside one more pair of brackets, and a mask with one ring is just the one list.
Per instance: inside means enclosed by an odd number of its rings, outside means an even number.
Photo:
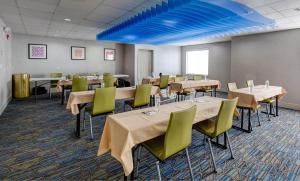
[{"label": "gray wall section surrounding the bright window", "polygon": [[182,72],[186,73],[186,52],[190,50],[209,50],[208,78],[220,80],[222,91],[226,91],[226,85],[230,81],[230,42],[211,43],[182,47]]}]

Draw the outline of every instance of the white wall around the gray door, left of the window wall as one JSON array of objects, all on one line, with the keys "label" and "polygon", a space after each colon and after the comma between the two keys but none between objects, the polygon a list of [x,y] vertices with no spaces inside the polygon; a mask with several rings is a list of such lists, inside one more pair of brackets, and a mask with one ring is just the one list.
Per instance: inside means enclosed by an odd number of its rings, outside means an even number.
[{"label": "white wall around the gray door, left of the window wall", "polygon": [[[179,46],[135,45],[135,62],[140,49],[153,50],[153,72],[159,74],[181,74],[181,48]],[[151,76],[151,75],[149,75]],[[137,78],[137,63],[135,63],[135,79]],[[137,82],[137,80],[135,80]]]}]

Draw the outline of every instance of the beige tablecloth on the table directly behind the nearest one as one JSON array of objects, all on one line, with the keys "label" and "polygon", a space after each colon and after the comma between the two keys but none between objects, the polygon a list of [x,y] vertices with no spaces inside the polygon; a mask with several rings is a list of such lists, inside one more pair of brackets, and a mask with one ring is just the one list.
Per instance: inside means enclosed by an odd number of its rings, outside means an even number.
[{"label": "beige tablecloth on the table directly behind the nearest one", "polygon": [[[135,93],[135,87],[124,87],[116,89],[116,100],[133,98]],[[71,92],[67,109],[71,109],[73,115],[79,113],[78,104],[93,102],[95,91],[81,91],[81,92]],[[151,95],[160,94],[159,87],[152,86]]]}]

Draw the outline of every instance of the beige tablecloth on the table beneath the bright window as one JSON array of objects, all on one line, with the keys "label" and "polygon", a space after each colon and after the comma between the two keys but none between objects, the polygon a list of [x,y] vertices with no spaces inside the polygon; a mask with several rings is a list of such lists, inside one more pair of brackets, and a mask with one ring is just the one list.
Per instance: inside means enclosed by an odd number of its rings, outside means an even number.
[{"label": "beige tablecloth on the table beneath the bright window", "polygon": [[187,89],[197,89],[202,87],[217,87],[221,88],[221,82],[219,80],[188,80],[181,82],[174,82],[170,85],[171,92],[182,92]]}]

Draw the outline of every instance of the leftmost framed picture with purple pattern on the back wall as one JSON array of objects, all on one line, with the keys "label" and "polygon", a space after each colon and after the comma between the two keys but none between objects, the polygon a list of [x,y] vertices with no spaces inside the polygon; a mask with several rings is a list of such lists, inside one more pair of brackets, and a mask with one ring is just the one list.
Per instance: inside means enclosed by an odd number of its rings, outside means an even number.
[{"label": "leftmost framed picture with purple pattern on the back wall", "polygon": [[47,59],[47,45],[29,43],[28,59]]}]

